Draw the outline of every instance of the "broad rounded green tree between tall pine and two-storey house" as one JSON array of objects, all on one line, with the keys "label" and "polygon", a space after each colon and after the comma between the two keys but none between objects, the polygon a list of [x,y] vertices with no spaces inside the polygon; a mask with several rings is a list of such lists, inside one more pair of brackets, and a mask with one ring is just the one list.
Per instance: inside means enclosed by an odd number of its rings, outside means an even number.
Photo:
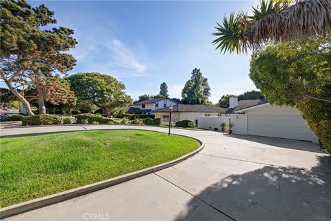
[{"label": "broad rounded green tree between tall pine and two-storey house", "polygon": [[132,104],[132,98],[126,95],[126,86],[110,75],[100,73],[77,73],[67,77],[79,104],[94,104],[105,115],[112,115],[119,108]]}]

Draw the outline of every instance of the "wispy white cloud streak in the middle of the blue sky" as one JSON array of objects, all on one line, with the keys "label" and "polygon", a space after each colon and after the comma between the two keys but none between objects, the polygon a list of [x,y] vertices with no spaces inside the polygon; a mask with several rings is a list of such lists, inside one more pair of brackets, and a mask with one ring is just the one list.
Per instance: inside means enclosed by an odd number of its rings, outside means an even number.
[{"label": "wispy white cloud streak in the middle of the blue sky", "polygon": [[117,66],[129,68],[138,73],[145,73],[148,70],[146,64],[139,62],[133,52],[121,41],[114,39],[108,47],[110,48],[112,60]]}]

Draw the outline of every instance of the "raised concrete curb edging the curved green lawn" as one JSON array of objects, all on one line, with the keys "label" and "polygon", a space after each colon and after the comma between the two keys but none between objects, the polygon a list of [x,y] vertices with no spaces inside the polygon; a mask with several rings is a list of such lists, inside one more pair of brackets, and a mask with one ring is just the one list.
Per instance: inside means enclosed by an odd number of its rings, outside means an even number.
[{"label": "raised concrete curb edging the curved green lawn", "polygon": [[[159,131],[157,131],[157,132],[159,132]],[[179,136],[189,137],[189,136],[185,136],[185,135],[179,135]],[[34,200],[29,200],[29,201],[26,201],[26,202],[21,202],[19,204],[14,204],[12,206],[7,206],[7,207],[4,207],[4,208],[1,208],[0,209],[0,220],[2,220],[4,218],[8,218],[12,215],[18,215],[19,213],[25,213],[27,211],[38,209],[38,208],[41,208],[43,206],[49,206],[51,204],[56,204],[58,202],[62,202],[62,201],[65,201],[65,200],[70,200],[72,198],[77,198],[81,195],[92,193],[94,191],[99,191],[101,189],[105,189],[105,188],[108,188],[110,186],[121,184],[122,182],[133,180],[133,179],[135,179],[137,177],[141,177],[143,175],[148,175],[150,173],[161,171],[161,170],[166,169],[170,166],[174,166],[175,164],[179,164],[180,162],[183,162],[184,160],[187,160],[188,158],[196,155],[197,153],[199,153],[205,147],[205,144],[203,144],[197,138],[194,138],[194,137],[190,137],[190,138],[192,138],[194,140],[197,140],[197,142],[199,142],[201,144],[201,146],[199,146],[199,148],[197,148],[195,151],[192,151],[192,152],[190,152],[186,155],[183,155],[182,157],[179,157],[179,158],[177,158],[175,160],[172,160],[170,162],[165,162],[163,164],[159,164],[157,166],[152,166],[152,167],[149,167],[149,168],[146,168],[146,169],[142,169],[140,171],[135,171],[135,172],[128,173],[128,174],[125,174],[125,175],[120,175],[120,176],[117,176],[117,177],[113,177],[113,178],[110,178],[108,180],[103,180],[103,181],[100,181],[100,182],[95,182],[93,184],[80,186],[80,187],[77,187],[75,189],[70,189],[68,191],[63,191],[61,193],[55,193],[55,194],[48,195],[48,196],[45,196],[45,197],[42,197],[42,198],[37,198],[37,199],[34,199]]]}]

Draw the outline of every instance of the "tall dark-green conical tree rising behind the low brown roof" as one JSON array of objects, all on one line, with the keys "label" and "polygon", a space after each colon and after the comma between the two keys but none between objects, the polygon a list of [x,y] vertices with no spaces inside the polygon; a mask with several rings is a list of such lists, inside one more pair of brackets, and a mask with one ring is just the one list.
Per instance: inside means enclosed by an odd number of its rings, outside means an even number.
[{"label": "tall dark-green conical tree rising behind the low brown roof", "polygon": [[183,104],[205,104],[210,96],[208,79],[203,77],[200,69],[194,68],[191,78],[181,91]]}]

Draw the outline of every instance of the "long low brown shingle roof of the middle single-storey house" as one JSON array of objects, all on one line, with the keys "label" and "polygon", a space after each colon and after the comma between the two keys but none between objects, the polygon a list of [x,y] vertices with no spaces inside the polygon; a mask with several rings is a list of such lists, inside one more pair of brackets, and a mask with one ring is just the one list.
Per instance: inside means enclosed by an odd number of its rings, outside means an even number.
[{"label": "long low brown shingle roof of the middle single-storey house", "polygon": [[[172,106],[172,112],[206,112],[224,113],[225,109],[218,106],[208,106],[204,104],[177,104]],[[152,112],[170,112],[170,108],[161,108]]]}]

